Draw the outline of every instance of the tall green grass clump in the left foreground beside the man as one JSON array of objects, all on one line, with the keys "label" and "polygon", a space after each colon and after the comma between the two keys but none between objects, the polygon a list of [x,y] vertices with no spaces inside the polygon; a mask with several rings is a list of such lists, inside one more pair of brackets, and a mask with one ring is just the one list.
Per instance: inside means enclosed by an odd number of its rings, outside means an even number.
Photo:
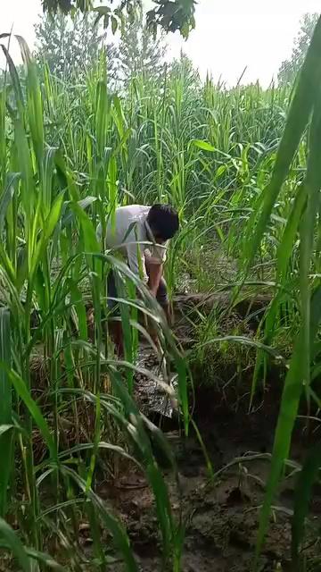
[{"label": "tall green grass clump in the left foreground beside the man", "polygon": [[[112,217],[124,200],[119,198],[118,169],[128,162],[130,130],[119,98],[110,97],[103,75],[90,92],[86,120],[78,116],[74,122],[47,69],[40,84],[28,46],[17,39],[26,69],[23,84],[2,45],[8,82],[1,97],[0,507],[1,517],[19,527],[19,538],[2,522],[2,546],[23,569],[42,569],[42,562],[57,568],[45,555],[53,538],[62,565],[79,569],[88,559],[78,543],[82,515],[91,528],[95,568],[105,569],[110,558],[105,528],[126,569],[137,570],[125,529],[95,492],[99,466],[103,462],[112,474],[116,458],[122,456],[139,467],[152,489],[164,566],[170,561],[178,570],[183,530],[153,457],[151,433],[177,469],[161,431],[146,426],[132,397],[137,332],[142,330],[136,321],[138,309],[152,317],[160,351],[164,356],[170,352],[177,367],[187,432],[185,362],[154,299],[126,265],[102,254],[95,234],[96,224],[102,221],[104,226],[105,216]],[[62,121],[58,130],[57,116]],[[123,296],[129,297],[129,304],[122,304],[124,362],[114,359],[103,336],[105,280],[111,267],[125,279]],[[136,300],[131,284],[140,290],[142,301]],[[95,308],[93,343],[88,341],[86,297]],[[35,310],[36,325],[31,322]],[[37,377],[32,374],[35,361],[42,372]],[[172,391],[167,380],[159,383]],[[66,427],[73,425],[70,437]],[[115,442],[106,441],[112,435]],[[21,509],[16,508],[19,503]]]}]

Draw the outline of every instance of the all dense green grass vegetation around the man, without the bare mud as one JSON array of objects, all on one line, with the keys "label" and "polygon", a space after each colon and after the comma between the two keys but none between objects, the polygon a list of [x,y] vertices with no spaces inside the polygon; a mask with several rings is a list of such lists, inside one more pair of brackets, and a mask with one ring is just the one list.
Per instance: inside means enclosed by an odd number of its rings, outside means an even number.
[{"label": "all dense green grass vegetation around the man, without the bare mud", "polygon": [[[271,356],[284,364],[259,549],[303,388],[319,407],[321,24],[294,94],[286,87],[226,90],[210,79],[202,83],[184,56],[157,75],[136,73],[117,92],[109,88],[103,52],[81,77],[57,77],[46,64],[37,67],[20,43],[22,76],[3,47],[8,69],[0,100],[3,546],[24,570],[36,569],[35,561],[61,569],[47,553],[61,566],[68,561],[70,570],[86,563],[105,569],[112,559],[103,526],[126,569],[137,570],[126,531],[97,493],[100,471],[117,478],[120,456],[135,463],[152,488],[164,561],[180,569],[184,522],[173,512],[152,442],[174,472],[175,459],[132,391],[138,332],[147,335],[137,324],[140,310],[159,332],[162,381],[169,381],[168,366],[177,371],[185,433],[190,366],[204,360],[205,348],[228,343],[257,350],[251,400]],[[182,288],[184,276],[193,290],[231,291],[231,306],[250,292],[268,291],[271,303],[254,335],[234,330],[222,336],[218,316],[202,316],[189,361],[148,291],[103,252],[95,228],[106,213],[154,200],[177,206],[182,223],[169,252],[171,293]],[[219,258],[225,261],[221,275]],[[128,300],[121,304],[123,362],[113,357],[103,320],[111,266]],[[91,341],[88,300],[95,309]],[[170,384],[165,389],[174,398]],[[311,458],[293,521],[293,561],[318,450]],[[89,559],[77,544],[84,515],[94,545]]]}]

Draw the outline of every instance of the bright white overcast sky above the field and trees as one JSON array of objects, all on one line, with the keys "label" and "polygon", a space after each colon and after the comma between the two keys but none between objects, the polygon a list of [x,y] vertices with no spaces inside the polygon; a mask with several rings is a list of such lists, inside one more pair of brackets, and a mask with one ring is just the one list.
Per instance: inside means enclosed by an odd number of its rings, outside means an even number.
[{"label": "bright white overcast sky above the field and trees", "polygon": [[[32,49],[41,0],[0,3],[0,33],[13,26],[13,32],[21,34]],[[321,12],[321,0],[198,0],[196,28],[190,37],[186,41],[177,33],[167,37],[169,59],[183,49],[203,78],[209,71],[214,80],[221,77],[228,86],[235,85],[247,66],[243,83],[259,80],[268,86],[291,55],[300,18],[307,12]],[[14,42],[11,51],[20,63]]]}]

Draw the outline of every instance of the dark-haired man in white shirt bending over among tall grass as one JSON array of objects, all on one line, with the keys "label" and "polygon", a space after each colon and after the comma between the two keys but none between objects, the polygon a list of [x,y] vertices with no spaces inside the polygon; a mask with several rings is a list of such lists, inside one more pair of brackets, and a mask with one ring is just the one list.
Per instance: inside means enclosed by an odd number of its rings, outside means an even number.
[{"label": "dark-haired man in white shirt bending over among tall grass", "polygon": [[[170,322],[170,307],[163,264],[169,239],[179,228],[177,211],[169,205],[129,205],[116,208],[114,224],[107,221],[106,249],[116,249],[127,260],[129,268],[140,276],[152,295],[158,300]],[[98,237],[102,227],[97,229]],[[148,244],[152,243],[152,244]],[[113,273],[108,275],[108,298],[117,298]],[[110,309],[117,302],[108,301]],[[113,322],[111,335],[119,355],[123,354],[121,323]]]}]

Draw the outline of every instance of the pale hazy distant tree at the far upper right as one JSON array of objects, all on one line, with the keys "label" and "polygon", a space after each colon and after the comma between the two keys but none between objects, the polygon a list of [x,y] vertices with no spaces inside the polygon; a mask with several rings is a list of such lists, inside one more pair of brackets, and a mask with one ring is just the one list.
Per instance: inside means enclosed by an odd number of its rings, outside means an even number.
[{"label": "pale hazy distant tree at the far upper right", "polygon": [[284,60],[278,71],[278,81],[280,85],[287,85],[292,83],[296,74],[300,71],[300,67],[304,62],[307,55],[309,44],[312,38],[313,30],[316,27],[319,14],[307,13],[304,14],[300,21],[300,31],[294,39],[294,46],[292,48],[292,55],[290,59]]}]

